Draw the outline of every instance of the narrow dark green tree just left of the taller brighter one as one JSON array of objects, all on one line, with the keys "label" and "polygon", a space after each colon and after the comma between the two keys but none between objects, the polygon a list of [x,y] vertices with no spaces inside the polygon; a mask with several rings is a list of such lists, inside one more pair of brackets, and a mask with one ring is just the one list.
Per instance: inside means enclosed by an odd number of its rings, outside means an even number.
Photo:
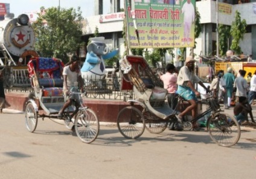
[{"label": "narrow dark green tree just left of the taller brighter one", "polygon": [[220,56],[223,56],[226,54],[226,51],[228,51],[230,26],[220,24],[217,31],[219,32],[219,53]]}]

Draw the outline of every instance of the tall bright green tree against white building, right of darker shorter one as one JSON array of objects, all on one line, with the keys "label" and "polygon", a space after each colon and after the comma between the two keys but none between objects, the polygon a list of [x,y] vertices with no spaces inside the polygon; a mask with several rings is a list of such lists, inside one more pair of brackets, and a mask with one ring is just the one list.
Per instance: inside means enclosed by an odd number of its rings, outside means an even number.
[{"label": "tall bright green tree against white building, right of darker shorter one", "polygon": [[246,20],[241,20],[240,13],[235,11],[235,20],[232,22],[230,33],[233,37],[231,49],[234,50],[235,54],[240,54],[242,52],[239,46],[239,41],[243,40],[243,35],[246,32]]}]

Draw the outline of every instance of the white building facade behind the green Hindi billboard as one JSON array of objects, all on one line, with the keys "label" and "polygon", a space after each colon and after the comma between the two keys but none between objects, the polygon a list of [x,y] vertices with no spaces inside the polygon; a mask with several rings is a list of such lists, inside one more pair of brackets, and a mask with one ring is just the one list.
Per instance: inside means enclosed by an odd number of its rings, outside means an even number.
[{"label": "white building facade behind the green Hindi billboard", "polygon": [[[106,43],[113,49],[120,49],[120,55],[123,55],[125,50],[123,38],[124,12],[120,12],[120,0],[110,0],[112,12],[110,14],[102,14],[103,5],[102,0],[95,0],[95,16],[85,18],[85,35],[83,38],[88,41],[88,38],[92,37],[95,29],[98,28],[100,35],[105,37]],[[245,19],[248,25],[246,34],[243,40],[240,41],[240,47],[243,54],[252,55],[252,58],[256,59],[256,0],[203,0],[196,1],[196,7],[200,13],[200,23],[202,24],[202,32],[199,38],[196,39],[197,45],[194,49],[196,56],[216,55],[217,21],[219,24],[230,26],[235,18],[235,11],[238,11],[241,19]],[[187,53],[189,52],[190,50],[187,50]],[[171,57],[167,55],[167,61],[168,58]]]}]

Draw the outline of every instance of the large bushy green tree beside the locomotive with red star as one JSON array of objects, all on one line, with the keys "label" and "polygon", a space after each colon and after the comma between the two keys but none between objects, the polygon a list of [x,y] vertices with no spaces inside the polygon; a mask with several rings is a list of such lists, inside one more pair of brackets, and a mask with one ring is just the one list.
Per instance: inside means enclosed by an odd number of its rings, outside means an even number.
[{"label": "large bushy green tree beside the locomotive with red star", "polygon": [[45,10],[45,14],[39,14],[33,28],[36,33],[35,47],[40,55],[68,62],[68,53],[77,52],[83,46],[82,20],[80,7],[77,10],[51,7]]}]

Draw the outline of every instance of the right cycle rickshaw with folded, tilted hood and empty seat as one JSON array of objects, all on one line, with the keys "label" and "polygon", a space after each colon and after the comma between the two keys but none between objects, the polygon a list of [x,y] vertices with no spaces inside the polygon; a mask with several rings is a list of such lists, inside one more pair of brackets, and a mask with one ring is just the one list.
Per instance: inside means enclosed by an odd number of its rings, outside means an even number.
[{"label": "right cycle rickshaw with folded, tilted hood and empty seat", "polygon": [[[178,120],[175,115],[179,112],[165,103],[167,90],[160,87],[162,83],[142,56],[127,55],[120,61],[120,67],[123,71],[122,89],[133,90],[135,94],[134,100],[127,101],[130,106],[123,108],[117,117],[118,130],[125,138],[139,138],[145,128],[150,133],[161,133],[169,123]],[[197,118],[185,121],[184,129],[192,129],[194,121],[207,116],[206,127],[211,139],[223,147],[235,145],[240,139],[237,120],[220,112],[219,104],[211,96],[199,103],[209,108]]]}]

